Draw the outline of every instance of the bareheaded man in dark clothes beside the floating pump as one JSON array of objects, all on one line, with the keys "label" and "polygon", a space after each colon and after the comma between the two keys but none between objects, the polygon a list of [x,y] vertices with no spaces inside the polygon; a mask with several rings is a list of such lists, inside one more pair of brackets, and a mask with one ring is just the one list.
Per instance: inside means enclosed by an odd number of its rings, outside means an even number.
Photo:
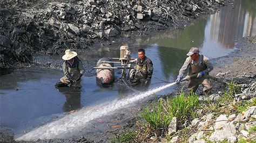
[{"label": "bareheaded man in dark clothes beside the floating pump", "polygon": [[145,56],[145,50],[139,49],[135,68],[130,72],[130,81],[138,90],[147,90],[151,83],[153,63]]}]

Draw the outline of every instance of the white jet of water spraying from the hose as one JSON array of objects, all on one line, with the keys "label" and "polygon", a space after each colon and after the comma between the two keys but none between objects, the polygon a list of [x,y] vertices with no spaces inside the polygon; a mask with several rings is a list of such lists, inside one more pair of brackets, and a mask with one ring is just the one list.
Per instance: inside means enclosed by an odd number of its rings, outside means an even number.
[{"label": "white jet of water spraying from the hose", "polygon": [[87,122],[102,117],[103,115],[110,115],[113,111],[124,108],[138,100],[142,100],[150,95],[164,90],[176,83],[160,86],[150,91],[141,93],[139,95],[128,97],[124,100],[114,100],[109,104],[99,105],[89,110],[80,110],[76,113],[66,115],[65,117],[50,122],[42,127],[36,128],[16,140],[37,140],[37,139],[53,139],[53,138],[65,138],[79,131],[79,128],[85,127]]}]

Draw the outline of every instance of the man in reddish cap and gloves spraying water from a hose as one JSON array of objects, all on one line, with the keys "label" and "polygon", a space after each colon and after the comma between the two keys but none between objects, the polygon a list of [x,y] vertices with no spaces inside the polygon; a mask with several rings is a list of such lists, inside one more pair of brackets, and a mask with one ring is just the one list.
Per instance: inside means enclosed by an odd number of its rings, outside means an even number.
[{"label": "man in reddish cap and gloves spraying water from a hose", "polygon": [[181,67],[176,82],[179,83],[179,81],[184,78],[185,72],[188,70],[188,76],[197,74],[197,78],[188,80],[188,89],[196,92],[198,86],[202,84],[204,86],[203,90],[205,94],[207,96],[210,95],[211,84],[204,75],[213,70],[213,65],[207,57],[199,55],[197,47],[192,47],[187,53],[187,56],[189,57],[186,58],[183,66]]}]

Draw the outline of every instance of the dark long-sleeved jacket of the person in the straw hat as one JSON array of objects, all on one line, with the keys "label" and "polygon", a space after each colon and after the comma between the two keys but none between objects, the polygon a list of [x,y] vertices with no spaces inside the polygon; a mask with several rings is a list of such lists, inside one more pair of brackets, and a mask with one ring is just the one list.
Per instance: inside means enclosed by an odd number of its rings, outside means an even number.
[{"label": "dark long-sleeved jacket of the person in the straw hat", "polygon": [[72,80],[78,80],[85,71],[82,61],[77,57],[75,57],[72,65],[68,63],[68,60],[65,60],[62,68],[65,76]]}]

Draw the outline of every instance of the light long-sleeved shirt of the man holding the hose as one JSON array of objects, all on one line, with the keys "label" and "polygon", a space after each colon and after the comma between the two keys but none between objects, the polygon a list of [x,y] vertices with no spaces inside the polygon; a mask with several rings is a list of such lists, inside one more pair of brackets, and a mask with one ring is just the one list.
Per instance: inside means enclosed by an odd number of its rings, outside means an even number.
[{"label": "light long-sleeved shirt of the man holding the hose", "polygon": [[187,57],[183,66],[179,71],[179,76],[184,77],[184,74],[188,70],[188,75],[198,73],[200,71],[204,71],[205,74],[208,74],[213,70],[213,65],[210,60],[204,55],[199,55],[199,61],[196,63],[191,57]]}]

